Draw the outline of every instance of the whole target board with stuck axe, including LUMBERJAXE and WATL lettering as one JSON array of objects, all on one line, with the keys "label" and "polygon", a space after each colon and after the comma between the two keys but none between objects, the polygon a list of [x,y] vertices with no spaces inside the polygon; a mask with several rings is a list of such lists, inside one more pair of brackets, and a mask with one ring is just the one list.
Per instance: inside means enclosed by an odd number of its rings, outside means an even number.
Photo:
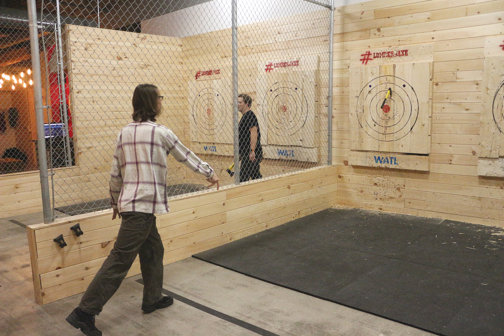
[{"label": "whole target board with stuck axe, including LUMBERJAXE and WATL lettering", "polygon": [[349,75],[351,164],[428,170],[425,157],[416,163],[397,158],[430,153],[432,50],[402,47],[353,56],[360,58],[351,62]]}]

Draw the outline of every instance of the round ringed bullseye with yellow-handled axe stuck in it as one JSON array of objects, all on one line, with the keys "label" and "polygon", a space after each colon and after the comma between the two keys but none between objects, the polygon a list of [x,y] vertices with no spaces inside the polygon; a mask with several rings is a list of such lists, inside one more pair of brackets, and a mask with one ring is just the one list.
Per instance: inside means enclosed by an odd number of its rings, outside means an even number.
[{"label": "round ringed bullseye with yellow-handled axe stuck in it", "polygon": [[415,90],[396,76],[373,78],[361,89],[356,105],[359,126],[368,136],[379,141],[404,138],[418,119],[419,103]]}]

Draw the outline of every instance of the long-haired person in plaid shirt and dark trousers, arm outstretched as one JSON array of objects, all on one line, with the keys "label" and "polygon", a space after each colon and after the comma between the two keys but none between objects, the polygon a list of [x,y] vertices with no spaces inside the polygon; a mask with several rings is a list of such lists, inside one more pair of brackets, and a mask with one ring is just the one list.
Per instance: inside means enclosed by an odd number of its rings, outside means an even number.
[{"label": "long-haired person in plaid shirt and dark trousers, arm outstretched", "polygon": [[137,86],[133,93],[134,121],[124,126],[117,137],[110,198],[112,219],[122,218],[121,226],[112,251],[79,306],[67,317],[70,324],[88,336],[101,336],[95,315],[119,288],[137,254],[144,281],[144,313],[173,303],[172,297],[161,294],[164,247],[154,216],[169,211],[166,155],[173,155],[178,162],[207,177],[209,187],[217,184],[219,189],[219,178],[208,163],[182,145],[170,129],[154,122],[161,112],[162,98],[154,85]]}]

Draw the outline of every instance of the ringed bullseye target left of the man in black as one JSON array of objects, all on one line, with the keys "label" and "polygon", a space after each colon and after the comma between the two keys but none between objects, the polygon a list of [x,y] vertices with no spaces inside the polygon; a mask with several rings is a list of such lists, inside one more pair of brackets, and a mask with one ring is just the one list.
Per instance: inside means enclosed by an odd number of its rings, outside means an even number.
[{"label": "ringed bullseye target left of the man in black", "polygon": [[213,88],[204,88],[197,92],[192,106],[194,124],[198,132],[207,136],[214,136],[216,131],[222,129],[225,119],[219,111],[225,106],[221,93]]}]

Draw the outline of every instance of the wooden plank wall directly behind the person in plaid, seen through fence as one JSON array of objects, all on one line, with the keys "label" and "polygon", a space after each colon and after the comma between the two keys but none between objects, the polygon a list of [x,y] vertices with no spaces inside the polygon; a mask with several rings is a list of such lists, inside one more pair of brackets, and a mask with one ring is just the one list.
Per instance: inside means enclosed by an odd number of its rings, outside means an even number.
[{"label": "wooden plank wall directly behind the person in plaid, seen through fence", "polygon": [[[132,121],[138,84],[158,86],[165,97],[158,122],[169,125],[182,142],[186,124],[177,115],[186,103],[179,39],[73,25],[65,33],[77,167],[57,172],[55,194],[56,203],[74,204],[108,197],[117,132]],[[180,169],[171,167],[169,182],[179,183]]]}]

